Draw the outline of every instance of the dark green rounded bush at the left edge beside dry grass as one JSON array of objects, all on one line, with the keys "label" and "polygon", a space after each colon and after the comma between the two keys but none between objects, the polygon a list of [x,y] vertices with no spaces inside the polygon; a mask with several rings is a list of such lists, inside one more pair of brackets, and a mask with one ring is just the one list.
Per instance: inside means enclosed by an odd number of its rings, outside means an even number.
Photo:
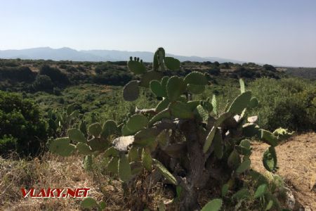
[{"label": "dark green rounded bush at the left edge beside dry grass", "polygon": [[19,155],[37,155],[45,139],[39,109],[18,94],[0,91],[0,155],[15,150]]}]

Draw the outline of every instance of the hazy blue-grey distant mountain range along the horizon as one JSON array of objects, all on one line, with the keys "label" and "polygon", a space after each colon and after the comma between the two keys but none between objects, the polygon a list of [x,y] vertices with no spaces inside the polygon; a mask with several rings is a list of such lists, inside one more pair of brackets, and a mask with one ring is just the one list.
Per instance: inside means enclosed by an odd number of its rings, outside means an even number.
[{"label": "hazy blue-grey distant mountain range along the horizon", "polygon": [[[21,58],[21,59],[44,59],[44,60],[73,60],[73,61],[118,61],[129,60],[130,56],[136,56],[145,62],[152,62],[153,53],[147,51],[114,51],[114,50],[89,50],[77,51],[70,48],[51,49],[50,47],[41,47],[22,50],[4,50],[0,51],[0,58]],[[199,57],[199,56],[173,56],[180,61],[190,60],[196,62],[218,61],[219,63],[232,62],[244,63],[239,60],[232,60],[217,57]]]}]

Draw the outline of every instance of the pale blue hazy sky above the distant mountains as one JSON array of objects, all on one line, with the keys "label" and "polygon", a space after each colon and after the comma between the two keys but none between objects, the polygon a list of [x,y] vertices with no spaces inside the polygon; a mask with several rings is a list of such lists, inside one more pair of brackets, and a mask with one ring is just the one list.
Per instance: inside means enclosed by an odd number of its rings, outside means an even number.
[{"label": "pale blue hazy sky above the distant mountains", "polygon": [[0,50],[41,46],[316,67],[316,1],[0,0]]}]

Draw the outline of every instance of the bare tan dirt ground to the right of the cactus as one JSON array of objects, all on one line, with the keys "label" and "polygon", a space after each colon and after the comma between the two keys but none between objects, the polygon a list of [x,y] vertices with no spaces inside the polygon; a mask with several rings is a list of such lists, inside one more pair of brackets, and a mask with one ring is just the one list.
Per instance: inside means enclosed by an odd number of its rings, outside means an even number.
[{"label": "bare tan dirt ground to the right of the cactus", "polygon": [[[259,172],[265,172],[262,155],[267,148],[265,143],[253,145],[252,167]],[[277,146],[276,151],[277,174],[284,178],[298,203],[316,211],[316,133],[293,136]]]}]

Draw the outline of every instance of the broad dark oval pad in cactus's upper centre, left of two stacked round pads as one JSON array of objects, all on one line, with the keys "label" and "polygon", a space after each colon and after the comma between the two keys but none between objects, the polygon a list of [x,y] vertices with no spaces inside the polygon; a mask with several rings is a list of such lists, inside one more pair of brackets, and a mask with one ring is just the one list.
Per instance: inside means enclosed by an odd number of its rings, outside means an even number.
[{"label": "broad dark oval pad in cactus's upper centre, left of two stacked round pads", "polygon": [[176,101],[185,92],[186,84],[177,76],[169,78],[167,83],[167,95],[170,101]]}]

